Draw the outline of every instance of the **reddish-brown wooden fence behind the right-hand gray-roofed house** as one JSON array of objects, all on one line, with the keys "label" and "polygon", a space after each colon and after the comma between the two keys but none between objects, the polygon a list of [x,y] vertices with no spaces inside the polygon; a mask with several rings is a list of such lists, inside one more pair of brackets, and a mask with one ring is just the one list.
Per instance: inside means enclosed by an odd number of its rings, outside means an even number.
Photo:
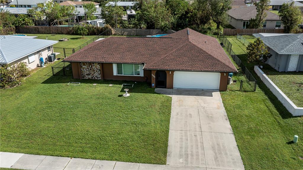
[{"label": "reddish-brown wooden fence behind the right-hand gray-roofed house", "polygon": [[230,29],[224,28],[223,35],[251,35],[256,33],[276,33],[281,34],[284,33],[284,29]]}]

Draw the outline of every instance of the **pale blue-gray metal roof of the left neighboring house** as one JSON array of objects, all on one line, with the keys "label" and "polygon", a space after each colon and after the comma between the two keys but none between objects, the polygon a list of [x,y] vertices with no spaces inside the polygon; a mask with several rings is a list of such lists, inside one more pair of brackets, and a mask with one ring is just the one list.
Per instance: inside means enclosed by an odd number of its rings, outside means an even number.
[{"label": "pale blue-gray metal roof of the left neighboring house", "polygon": [[58,41],[23,38],[21,36],[0,36],[0,63],[8,64],[14,60],[32,54]]}]

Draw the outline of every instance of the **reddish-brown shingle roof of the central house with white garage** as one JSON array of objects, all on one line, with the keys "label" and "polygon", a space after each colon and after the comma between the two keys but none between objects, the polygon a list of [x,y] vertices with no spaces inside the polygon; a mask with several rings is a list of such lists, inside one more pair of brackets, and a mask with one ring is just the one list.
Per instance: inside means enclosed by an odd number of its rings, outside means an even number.
[{"label": "reddish-brown shingle roof of the central house with white garage", "polygon": [[163,38],[105,38],[63,61],[144,63],[144,69],[237,71],[216,38],[189,28]]}]

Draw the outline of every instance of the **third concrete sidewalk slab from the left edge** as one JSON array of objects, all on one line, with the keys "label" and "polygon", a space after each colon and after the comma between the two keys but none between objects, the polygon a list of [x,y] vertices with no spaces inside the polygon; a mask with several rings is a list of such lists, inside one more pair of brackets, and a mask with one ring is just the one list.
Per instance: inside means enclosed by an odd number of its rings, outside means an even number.
[{"label": "third concrete sidewalk slab from the left edge", "polygon": [[36,170],[63,170],[71,158],[46,156]]}]

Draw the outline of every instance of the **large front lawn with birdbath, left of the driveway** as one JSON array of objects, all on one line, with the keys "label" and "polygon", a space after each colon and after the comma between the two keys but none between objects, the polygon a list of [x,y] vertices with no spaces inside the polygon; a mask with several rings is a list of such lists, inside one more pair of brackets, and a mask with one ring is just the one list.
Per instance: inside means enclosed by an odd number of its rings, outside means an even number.
[{"label": "large front lawn with birdbath, left of the driveway", "polygon": [[51,76],[50,65],[0,90],[1,151],[166,163],[171,97],[138,82],[126,98],[125,82]]}]

